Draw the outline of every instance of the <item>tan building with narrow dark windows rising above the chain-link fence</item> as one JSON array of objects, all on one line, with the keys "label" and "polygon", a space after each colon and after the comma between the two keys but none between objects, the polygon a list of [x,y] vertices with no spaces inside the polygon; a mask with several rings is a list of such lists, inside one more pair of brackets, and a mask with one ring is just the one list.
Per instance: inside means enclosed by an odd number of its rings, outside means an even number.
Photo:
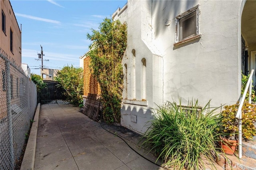
[{"label": "tan building with narrow dark windows rising above the chain-link fence", "polygon": [[0,48],[21,67],[21,31],[9,0],[0,1]]}]

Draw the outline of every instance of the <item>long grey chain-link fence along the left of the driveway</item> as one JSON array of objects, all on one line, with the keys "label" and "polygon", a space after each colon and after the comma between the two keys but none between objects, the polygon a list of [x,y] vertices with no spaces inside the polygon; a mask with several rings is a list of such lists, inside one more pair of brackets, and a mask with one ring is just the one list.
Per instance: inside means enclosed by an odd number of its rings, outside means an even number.
[{"label": "long grey chain-link fence along the left of the driveway", "polygon": [[36,85],[0,49],[0,170],[17,169],[36,106]]}]

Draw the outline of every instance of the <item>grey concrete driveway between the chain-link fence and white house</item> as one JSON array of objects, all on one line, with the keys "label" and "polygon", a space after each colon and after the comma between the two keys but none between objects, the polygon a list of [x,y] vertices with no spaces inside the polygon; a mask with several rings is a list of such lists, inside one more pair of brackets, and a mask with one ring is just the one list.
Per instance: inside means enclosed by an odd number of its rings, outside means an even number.
[{"label": "grey concrete driveway between the chain-link fence and white house", "polygon": [[[132,148],[155,162],[156,157],[136,146],[140,135],[118,125],[104,124],[103,127],[116,135],[109,133],[79,110],[70,104],[41,105],[34,162],[26,155],[23,162],[36,170],[163,169],[140,156],[117,136],[122,136]],[[21,169],[30,169],[23,162]]]}]

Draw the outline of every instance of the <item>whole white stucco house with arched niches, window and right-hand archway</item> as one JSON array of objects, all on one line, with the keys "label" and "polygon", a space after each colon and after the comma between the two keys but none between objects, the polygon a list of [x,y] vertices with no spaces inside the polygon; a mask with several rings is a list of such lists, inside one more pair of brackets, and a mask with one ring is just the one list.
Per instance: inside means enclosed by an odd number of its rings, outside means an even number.
[{"label": "whole white stucco house with arched niches, window and right-hand archway", "polygon": [[166,100],[236,103],[256,67],[256,1],[128,0],[112,16],[128,26],[121,124],[138,133]]}]

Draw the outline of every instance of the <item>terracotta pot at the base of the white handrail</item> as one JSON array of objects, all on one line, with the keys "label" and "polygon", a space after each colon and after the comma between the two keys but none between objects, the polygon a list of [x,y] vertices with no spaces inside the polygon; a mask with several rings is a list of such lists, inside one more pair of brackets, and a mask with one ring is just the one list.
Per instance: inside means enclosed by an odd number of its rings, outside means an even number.
[{"label": "terracotta pot at the base of the white handrail", "polygon": [[219,142],[222,152],[225,154],[233,155],[236,152],[236,147],[238,145],[238,141],[229,140],[229,139],[221,139]]}]

